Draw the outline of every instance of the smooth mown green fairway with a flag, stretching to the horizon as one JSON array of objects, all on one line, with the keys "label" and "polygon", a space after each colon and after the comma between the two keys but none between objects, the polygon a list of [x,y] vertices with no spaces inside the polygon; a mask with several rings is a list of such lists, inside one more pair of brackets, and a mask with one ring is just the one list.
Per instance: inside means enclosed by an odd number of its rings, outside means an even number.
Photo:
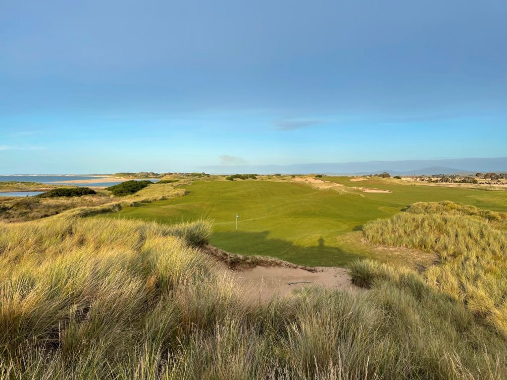
[{"label": "smooth mown green fairway with a flag, stretching to the horizon", "polygon": [[[340,195],[305,183],[248,180],[195,181],[187,195],[142,204],[106,217],[174,223],[208,218],[214,221],[210,243],[226,251],[278,257],[305,265],[340,266],[354,258],[375,257],[362,241],[361,226],[386,218],[414,202],[450,200],[507,211],[507,192],[408,185],[396,180],[327,177],[347,186],[376,187],[392,193]],[[235,215],[239,214],[238,231]]]}]

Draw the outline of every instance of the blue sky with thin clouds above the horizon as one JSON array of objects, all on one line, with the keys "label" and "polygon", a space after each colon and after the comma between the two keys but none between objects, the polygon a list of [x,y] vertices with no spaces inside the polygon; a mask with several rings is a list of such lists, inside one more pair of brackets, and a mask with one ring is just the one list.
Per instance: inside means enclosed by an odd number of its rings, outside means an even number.
[{"label": "blue sky with thin clouds above the horizon", "polygon": [[0,173],[504,157],[504,1],[3,1]]}]

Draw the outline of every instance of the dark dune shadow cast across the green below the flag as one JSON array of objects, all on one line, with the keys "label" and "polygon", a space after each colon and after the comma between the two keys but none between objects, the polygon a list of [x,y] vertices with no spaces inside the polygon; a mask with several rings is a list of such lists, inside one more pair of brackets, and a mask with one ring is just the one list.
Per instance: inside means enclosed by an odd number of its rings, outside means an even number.
[{"label": "dark dune shadow cast across the green below the flag", "polygon": [[366,257],[341,247],[325,245],[323,237],[318,239],[316,246],[302,247],[286,240],[270,239],[268,236],[269,231],[215,232],[211,243],[230,253],[271,256],[311,267],[339,267],[354,259]]}]

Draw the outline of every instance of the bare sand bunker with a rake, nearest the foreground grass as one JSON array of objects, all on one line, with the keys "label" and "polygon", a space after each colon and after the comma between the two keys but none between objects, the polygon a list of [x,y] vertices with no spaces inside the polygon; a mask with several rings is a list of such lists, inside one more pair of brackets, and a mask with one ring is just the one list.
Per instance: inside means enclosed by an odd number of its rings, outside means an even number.
[{"label": "bare sand bunker with a rake, nearest the foreground grass", "polygon": [[[357,289],[344,268],[316,268],[308,272],[300,268],[260,267],[245,271],[230,271],[246,297],[269,300],[273,295],[284,296],[305,286],[323,286],[335,289]],[[295,282],[304,282],[294,284]],[[292,283],[289,285],[289,283]]]}]

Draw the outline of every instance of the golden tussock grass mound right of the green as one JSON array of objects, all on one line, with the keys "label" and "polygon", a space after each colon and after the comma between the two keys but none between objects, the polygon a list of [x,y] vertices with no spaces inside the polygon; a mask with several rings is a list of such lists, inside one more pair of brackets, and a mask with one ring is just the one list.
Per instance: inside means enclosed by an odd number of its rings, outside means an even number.
[{"label": "golden tussock grass mound right of the green", "polygon": [[424,272],[426,282],[507,336],[505,220],[505,213],[473,206],[418,203],[364,231],[373,243],[437,253],[440,262]]}]

